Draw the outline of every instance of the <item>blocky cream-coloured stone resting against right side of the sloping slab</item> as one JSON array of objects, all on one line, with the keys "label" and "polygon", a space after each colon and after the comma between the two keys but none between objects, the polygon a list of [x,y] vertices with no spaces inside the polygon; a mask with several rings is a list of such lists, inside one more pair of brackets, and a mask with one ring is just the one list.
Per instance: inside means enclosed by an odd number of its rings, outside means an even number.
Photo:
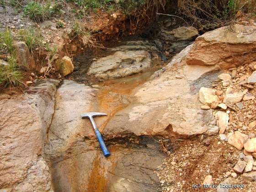
[{"label": "blocky cream-coloured stone resting against right side of the sloping slab", "polygon": [[219,97],[215,95],[215,91],[210,88],[201,87],[199,90],[199,101],[205,105],[211,106],[214,101],[219,101]]}]

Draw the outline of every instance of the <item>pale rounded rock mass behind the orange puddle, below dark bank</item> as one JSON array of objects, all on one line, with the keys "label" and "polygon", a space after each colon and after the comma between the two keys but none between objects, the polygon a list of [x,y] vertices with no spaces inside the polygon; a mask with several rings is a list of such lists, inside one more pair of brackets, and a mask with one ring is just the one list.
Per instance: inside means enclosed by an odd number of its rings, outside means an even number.
[{"label": "pale rounded rock mass behind the orange puddle, below dark bank", "polygon": [[151,55],[150,50],[156,50],[156,48],[150,43],[128,42],[127,45],[115,49],[118,51],[94,61],[87,74],[99,79],[115,79],[137,74],[153,67],[154,56]]}]

